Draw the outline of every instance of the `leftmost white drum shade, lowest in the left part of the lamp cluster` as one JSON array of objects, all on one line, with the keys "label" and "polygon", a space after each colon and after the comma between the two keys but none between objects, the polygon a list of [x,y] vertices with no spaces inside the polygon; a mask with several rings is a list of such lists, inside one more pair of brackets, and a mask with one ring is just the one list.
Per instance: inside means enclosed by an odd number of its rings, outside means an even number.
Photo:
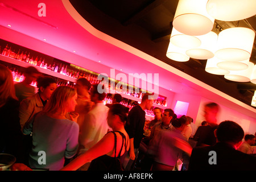
[{"label": "leftmost white drum shade, lowest in the left part of the lamp cluster", "polygon": [[185,51],[186,49],[174,46],[174,44],[170,42],[166,56],[174,61],[185,62],[189,60],[189,57],[185,54]]}]

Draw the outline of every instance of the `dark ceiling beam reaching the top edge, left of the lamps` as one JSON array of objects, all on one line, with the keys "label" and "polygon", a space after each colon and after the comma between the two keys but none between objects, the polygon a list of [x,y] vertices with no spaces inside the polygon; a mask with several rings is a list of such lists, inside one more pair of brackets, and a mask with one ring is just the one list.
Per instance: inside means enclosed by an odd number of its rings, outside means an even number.
[{"label": "dark ceiling beam reaching the top edge, left of the lamps", "polygon": [[127,26],[130,23],[134,23],[136,20],[142,18],[142,16],[146,15],[149,11],[155,9],[156,7],[162,5],[162,3],[167,0],[155,0],[151,1],[147,5],[143,6],[141,9],[139,9],[136,13],[131,15],[129,18],[127,18],[125,21],[122,22],[124,26]]}]

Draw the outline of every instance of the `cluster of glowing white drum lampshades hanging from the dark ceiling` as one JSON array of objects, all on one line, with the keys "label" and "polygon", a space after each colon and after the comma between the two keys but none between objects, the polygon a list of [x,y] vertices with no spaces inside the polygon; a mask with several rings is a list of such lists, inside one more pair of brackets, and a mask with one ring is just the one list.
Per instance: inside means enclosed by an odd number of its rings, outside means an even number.
[{"label": "cluster of glowing white drum lampshades hanging from the dark ceiling", "polygon": [[255,0],[179,0],[166,56],[175,61],[207,60],[205,71],[237,82],[256,84],[250,62],[255,31],[234,27],[213,32],[214,20],[236,21],[256,14]]}]

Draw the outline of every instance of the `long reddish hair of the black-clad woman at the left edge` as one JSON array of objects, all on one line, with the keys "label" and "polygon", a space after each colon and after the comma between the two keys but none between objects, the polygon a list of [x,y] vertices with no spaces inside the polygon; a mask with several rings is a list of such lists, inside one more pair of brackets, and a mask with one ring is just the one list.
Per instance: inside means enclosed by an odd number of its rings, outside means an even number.
[{"label": "long reddish hair of the black-clad woman at the left edge", "polygon": [[6,104],[8,98],[18,100],[15,94],[13,75],[9,68],[0,64],[0,107]]}]

